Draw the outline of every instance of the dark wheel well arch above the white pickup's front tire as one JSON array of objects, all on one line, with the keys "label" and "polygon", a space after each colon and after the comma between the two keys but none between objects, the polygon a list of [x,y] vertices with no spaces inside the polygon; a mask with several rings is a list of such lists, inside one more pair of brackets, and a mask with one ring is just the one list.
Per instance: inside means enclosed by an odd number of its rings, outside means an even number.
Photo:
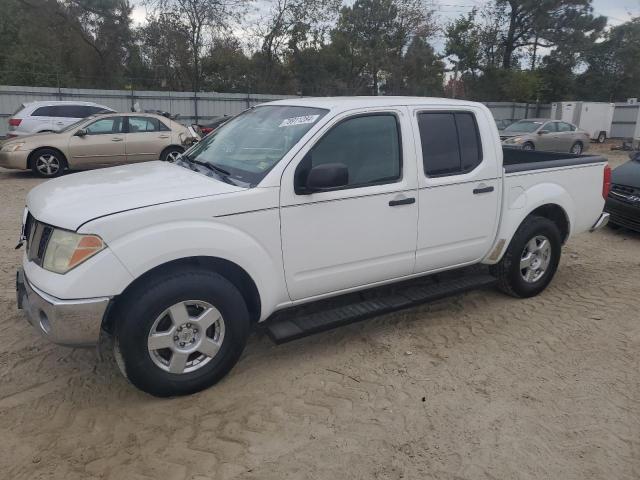
[{"label": "dark wheel well arch above the white pickup's front tire", "polygon": [[154,276],[163,275],[183,268],[201,268],[222,275],[240,290],[244,300],[247,302],[251,321],[257,322],[260,319],[260,293],[251,276],[242,267],[229,260],[218,257],[188,257],[173,260],[152,268],[131,282],[120,295],[112,300],[102,322],[102,328],[109,333],[113,333],[118,303],[136,287],[144,284],[145,281],[148,281]]}]

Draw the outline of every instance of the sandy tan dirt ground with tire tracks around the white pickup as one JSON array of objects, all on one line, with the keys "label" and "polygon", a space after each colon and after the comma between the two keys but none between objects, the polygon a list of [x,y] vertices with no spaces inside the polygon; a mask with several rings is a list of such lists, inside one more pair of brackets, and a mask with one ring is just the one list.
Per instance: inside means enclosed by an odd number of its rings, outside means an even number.
[{"label": "sandy tan dirt ground with tire tracks around the white pickup", "polygon": [[640,478],[640,235],[575,237],[537,298],[477,291],[283,346],[255,334],[217,386],[160,400],[16,310],[39,182],[0,169],[0,478]]}]

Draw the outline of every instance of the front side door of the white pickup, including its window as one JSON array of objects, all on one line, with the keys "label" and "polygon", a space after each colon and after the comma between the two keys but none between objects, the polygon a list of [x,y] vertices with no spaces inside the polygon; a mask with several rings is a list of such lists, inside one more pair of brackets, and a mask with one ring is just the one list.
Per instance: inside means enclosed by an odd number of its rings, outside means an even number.
[{"label": "front side door of the white pickup, including its window", "polygon": [[[418,209],[407,110],[340,115],[309,143],[282,176],[282,251],[291,298],[411,274]],[[327,164],[346,166],[348,183],[305,193],[309,170]]]}]

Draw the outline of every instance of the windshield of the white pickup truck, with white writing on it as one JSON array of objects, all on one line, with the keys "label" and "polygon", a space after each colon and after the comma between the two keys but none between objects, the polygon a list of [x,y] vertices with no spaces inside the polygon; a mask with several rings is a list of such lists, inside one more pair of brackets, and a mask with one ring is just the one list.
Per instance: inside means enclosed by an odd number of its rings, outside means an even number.
[{"label": "windshield of the white pickup truck, with white writing on it", "polygon": [[229,120],[185,152],[239,184],[257,185],[328,110],[285,105],[255,107]]}]

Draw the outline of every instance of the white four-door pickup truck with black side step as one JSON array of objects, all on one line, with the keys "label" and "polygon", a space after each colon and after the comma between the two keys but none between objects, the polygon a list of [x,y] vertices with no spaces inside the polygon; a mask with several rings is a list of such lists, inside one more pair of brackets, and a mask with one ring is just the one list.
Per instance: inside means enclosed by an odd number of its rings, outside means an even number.
[{"label": "white four-door pickup truck with black side step", "polygon": [[34,188],[18,304],[59,344],[112,335],[142,390],[188,394],[229,372],[260,322],[282,342],[470,288],[536,295],[561,245],[607,222],[609,184],[599,156],[503,152],[477,103],[268,103],[175,163]]}]

